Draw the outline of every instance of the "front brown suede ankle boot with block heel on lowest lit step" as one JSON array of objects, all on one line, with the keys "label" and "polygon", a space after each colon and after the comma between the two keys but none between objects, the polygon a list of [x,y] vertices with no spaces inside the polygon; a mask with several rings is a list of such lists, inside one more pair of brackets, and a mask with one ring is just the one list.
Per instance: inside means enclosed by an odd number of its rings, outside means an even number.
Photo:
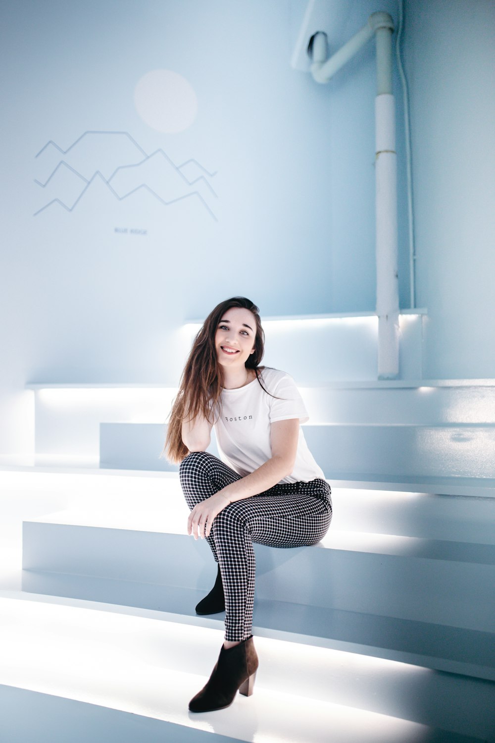
[{"label": "front brown suede ankle boot with block heel on lowest lit step", "polygon": [[191,712],[212,712],[229,707],[237,690],[252,695],[258,669],[258,654],[252,635],[239,645],[220,650],[218,661],[206,686],[189,702]]}]

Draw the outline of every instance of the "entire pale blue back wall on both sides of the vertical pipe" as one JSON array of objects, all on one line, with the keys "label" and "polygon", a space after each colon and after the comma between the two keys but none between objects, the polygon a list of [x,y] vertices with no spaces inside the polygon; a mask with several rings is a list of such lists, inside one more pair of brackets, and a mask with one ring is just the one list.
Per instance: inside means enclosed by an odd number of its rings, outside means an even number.
[{"label": "entire pale blue back wall on both sides of the vertical pipe", "polygon": [[[177,328],[226,296],[252,296],[266,315],[373,310],[373,45],[331,85],[317,85],[289,65],[305,5],[2,4],[1,85],[9,106],[1,143],[0,452],[29,447],[25,382],[174,382],[182,364]],[[371,0],[348,7],[349,35],[376,10]],[[466,7],[475,11],[465,18]],[[493,375],[494,99],[482,96],[488,63],[493,72],[493,8],[482,1],[406,4],[418,302],[431,314],[430,377]],[[138,80],[160,68],[183,75],[197,95],[197,117],[183,132],[151,129],[134,107]],[[407,307],[404,137],[394,74],[399,279]],[[195,158],[217,172],[208,178],[217,196],[201,186],[217,221],[197,198],[163,207],[141,189],[119,202],[101,182],[72,212],[53,204],[33,216],[51,198],[72,203],[81,189],[67,170],[45,189],[36,185],[61,157],[53,148],[36,153],[49,140],[66,149],[89,130],[128,132],[147,153],[163,148],[177,165]],[[66,159],[88,178],[95,169],[108,178],[139,157],[125,137],[86,137]],[[156,169],[140,178],[127,172],[134,186],[157,176]],[[115,227],[147,235],[120,235]]]}]

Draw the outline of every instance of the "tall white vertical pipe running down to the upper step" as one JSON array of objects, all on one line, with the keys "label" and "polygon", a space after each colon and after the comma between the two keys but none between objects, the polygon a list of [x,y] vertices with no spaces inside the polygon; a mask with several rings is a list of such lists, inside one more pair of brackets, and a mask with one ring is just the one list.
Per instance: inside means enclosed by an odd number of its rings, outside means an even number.
[{"label": "tall white vertical pipe running down to the upper step", "polygon": [[376,30],[376,314],[378,379],[399,375],[399,280],[397,270],[397,164],[392,94],[392,30]]}]

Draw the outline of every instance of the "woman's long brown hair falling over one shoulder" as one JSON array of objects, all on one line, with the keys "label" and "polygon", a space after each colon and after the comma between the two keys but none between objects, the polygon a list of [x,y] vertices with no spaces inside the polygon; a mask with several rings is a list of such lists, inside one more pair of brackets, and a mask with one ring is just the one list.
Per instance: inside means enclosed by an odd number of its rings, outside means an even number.
[{"label": "woman's long brown hair falling over one shoulder", "polygon": [[[233,296],[220,302],[203,323],[192,344],[182,377],[179,392],[174,400],[168,422],[167,436],[163,454],[168,461],[178,464],[189,454],[189,449],[182,440],[183,421],[194,421],[197,415],[203,415],[212,423],[214,410],[222,393],[222,369],[217,361],[214,338],[217,326],[223,315],[233,307],[242,307],[255,316],[256,336],[255,352],[249,354],[246,369],[254,369],[260,382],[259,365],[263,358],[265,335],[261,327],[258,307],[245,296]],[[263,384],[261,384],[263,387]],[[264,389],[264,387],[263,387]]]}]

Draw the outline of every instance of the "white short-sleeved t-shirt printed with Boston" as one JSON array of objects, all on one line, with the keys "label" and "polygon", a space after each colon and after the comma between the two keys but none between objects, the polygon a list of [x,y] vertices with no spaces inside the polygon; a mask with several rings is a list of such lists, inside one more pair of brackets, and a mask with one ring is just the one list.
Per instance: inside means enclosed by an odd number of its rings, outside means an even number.
[{"label": "white short-sleeved t-shirt printed with Boston", "polygon": [[[220,458],[242,477],[271,458],[270,424],[289,418],[299,418],[301,423],[309,420],[299,390],[289,374],[278,369],[262,369],[260,377],[270,395],[264,392],[257,379],[238,389],[223,389],[220,415],[215,416],[214,431]],[[324,480],[325,476],[300,428],[294,469],[281,482],[309,482],[315,478]]]}]

